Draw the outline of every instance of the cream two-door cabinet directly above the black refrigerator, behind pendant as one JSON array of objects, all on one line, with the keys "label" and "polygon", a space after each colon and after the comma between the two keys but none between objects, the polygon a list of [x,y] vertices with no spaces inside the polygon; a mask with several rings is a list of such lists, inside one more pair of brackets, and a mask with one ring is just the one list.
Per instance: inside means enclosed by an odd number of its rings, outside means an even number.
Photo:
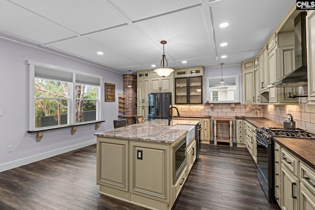
[{"label": "cream two-door cabinet directly above the black refrigerator, behind pendant", "polygon": [[171,76],[167,77],[160,77],[158,74],[154,71],[150,72],[150,90],[151,93],[157,93],[157,92],[171,92],[172,89],[172,82],[173,82],[173,73]]}]

